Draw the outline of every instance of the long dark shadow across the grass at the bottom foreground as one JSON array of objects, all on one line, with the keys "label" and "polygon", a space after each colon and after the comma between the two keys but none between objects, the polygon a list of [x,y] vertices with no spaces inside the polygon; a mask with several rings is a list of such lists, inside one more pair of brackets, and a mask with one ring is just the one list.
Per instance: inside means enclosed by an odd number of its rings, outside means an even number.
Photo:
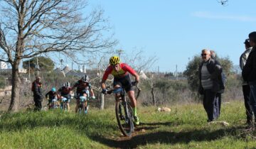
[{"label": "long dark shadow across the grass at the bottom foreground", "polygon": [[110,148],[138,148],[140,145],[164,143],[189,143],[191,141],[210,141],[220,139],[223,136],[233,136],[236,130],[242,127],[222,128],[216,131],[209,132],[208,130],[196,130],[187,132],[167,132],[159,131],[154,133],[144,133],[132,138],[120,138],[114,140],[103,136],[90,136],[92,140],[105,144]]}]

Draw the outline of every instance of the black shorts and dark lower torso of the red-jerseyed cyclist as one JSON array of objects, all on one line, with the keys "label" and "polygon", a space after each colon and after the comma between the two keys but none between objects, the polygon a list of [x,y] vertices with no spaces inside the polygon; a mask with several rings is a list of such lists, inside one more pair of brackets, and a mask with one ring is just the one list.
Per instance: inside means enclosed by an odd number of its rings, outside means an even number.
[{"label": "black shorts and dark lower torso of the red-jerseyed cyclist", "polygon": [[126,75],[121,78],[114,77],[113,86],[119,85],[120,87],[124,87],[126,92],[134,91],[134,87],[132,87],[132,81],[129,75]]}]

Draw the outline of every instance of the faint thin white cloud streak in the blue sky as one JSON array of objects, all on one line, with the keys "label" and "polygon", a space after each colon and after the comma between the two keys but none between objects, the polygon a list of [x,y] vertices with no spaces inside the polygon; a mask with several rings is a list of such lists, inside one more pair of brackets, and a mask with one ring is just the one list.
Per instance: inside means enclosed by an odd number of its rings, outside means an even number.
[{"label": "faint thin white cloud streak in the blue sky", "polygon": [[198,18],[213,18],[213,19],[225,19],[225,20],[232,20],[232,21],[256,22],[256,18],[252,16],[215,14],[215,13],[210,13],[206,11],[196,11],[191,13],[191,16],[196,16]]}]

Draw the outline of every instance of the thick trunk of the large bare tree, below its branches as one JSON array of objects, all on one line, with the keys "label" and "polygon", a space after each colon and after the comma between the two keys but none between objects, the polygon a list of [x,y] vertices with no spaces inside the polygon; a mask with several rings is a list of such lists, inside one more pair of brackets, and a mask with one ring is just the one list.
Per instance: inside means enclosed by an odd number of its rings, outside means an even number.
[{"label": "thick trunk of the large bare tree, below its branches", "polygon": [[16,61],[12,66],[11,73],[11,103],[8,111],[18,111],[19,94],[20,94],[20,78],[18,76],[19,61]]}]

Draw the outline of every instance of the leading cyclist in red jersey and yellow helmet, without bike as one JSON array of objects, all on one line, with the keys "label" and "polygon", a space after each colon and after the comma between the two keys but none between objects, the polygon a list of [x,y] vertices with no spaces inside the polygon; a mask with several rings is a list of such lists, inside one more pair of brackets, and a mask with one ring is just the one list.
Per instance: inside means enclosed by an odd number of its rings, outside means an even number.
[{"label": "leading cyclist in red jersey and yellow helmet, without bike", "polygon": [[132,81],[129,77],[129,74],[135,77],[136,83],[139,82],[139,75],[137,74],[137,72],[135,72],[135,70],[132,69],[132,67],[125,63],[121,63],[119,57],[110,57],[110,65],[107,67],[107,70],[105,70],[105,74],[103,75],[101,82],[103,94],[107,93],[105,81],[110,74],[114,76],[114,88],[122,86],[127,92],[134,112],[134,123],[136,125],[139,125],[139,117],[137,116],[137,101],[134,96],[134,88],[132,87]]}]

